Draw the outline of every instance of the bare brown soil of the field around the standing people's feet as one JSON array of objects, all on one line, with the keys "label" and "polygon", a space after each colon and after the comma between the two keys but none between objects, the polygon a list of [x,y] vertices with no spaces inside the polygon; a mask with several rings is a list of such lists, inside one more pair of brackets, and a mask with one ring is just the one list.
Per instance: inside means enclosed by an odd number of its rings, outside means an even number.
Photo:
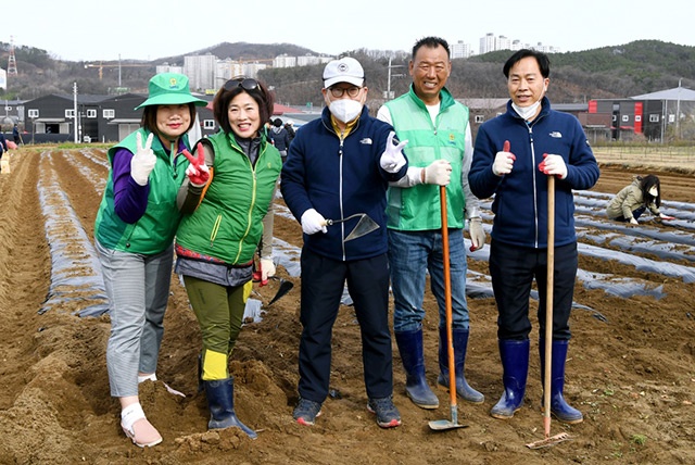
[{"label": "bare brown soil of the field around the standing people's feet", "polygon": [[[91,151],[103,160],[103,151]],[[238,416],[258,430],[258,439],[249,440],[235,428],[206,431],[206,403],[197,392],[195,379],[200,334],[175,279],[157,375],[188,395],[168,394],[161,381],[141,386],[143,407],[164,441],[139,449],[121,431],[117,402],[109,394],[104,357],[109,316],[73,315],[87,304],[79,300],[38,314],[50,286],[51,255],[37,183],[47,172],[54,173],[91,238],[106,168],[77,150],[22,149],[11,163],[12,173],[0,175],[2,464],[695,463],[693,285],[620,264],[612,264],[610,273],[664,285],[666,297],[619,299],[578,285],[576,301],[601,312],[607,322],[582,310],[572,314],[566,397],[585,419],[574,426],[553,420],[553,433],[566,431],[572,438],[555,448],[525,445],[543,438],[536,356],[531,357],[521,411],[508,422],[489,415],[502,389],[492,299],[469,301],[467,377],[485,394],[485,403],[459,403],[459,420],[468,428],[430,430],[429,420],[450,418],[448,395],[438,391],[437,411],[413,405],[404,394],[397,350],[394,401],[403,426],[382,430],[376,425],[365,410],[358,327],[349,306],[341,309],[333,337],[331,388],[339,395],[326,401],[316,426],[295,424],[291,413],[296,400],[300,282],[280,267],[278,274],[291,279],[294,289],[268,307],[261,323],[244,327],[230,364]],[[603,166],[594,190],[617,192],[632,174],[626,166]],[[695,202],[692,175],[666,171],[659,175],[668,200]],[[275,235],[301,246],[295,222],[278,217]],[[469,266],[488,271],[486,263],[472,259]],[[606,272],[598,259],[582,257],[581,266]],[[271,281],[256,287],[256,297],[267,304],[276,286]],[[428,379],[434,385],[438,316],[429,291],[426,309]]]}]

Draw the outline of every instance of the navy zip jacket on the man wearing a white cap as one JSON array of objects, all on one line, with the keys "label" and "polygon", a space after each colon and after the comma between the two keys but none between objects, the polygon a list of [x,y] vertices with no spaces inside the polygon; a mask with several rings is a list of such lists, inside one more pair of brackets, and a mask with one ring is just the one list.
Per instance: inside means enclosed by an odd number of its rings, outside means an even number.
[{"label": "navy zip jacket on the man wearing a white cap", "polygon": [[280,191],[298,221],[308,209],[326,219],[366,213],[380,227],[358,239],[343,242],[358,218],[328,226],[328,232],[304,235],[304,247],[332,260],[364,260],[386,253],[387,189],[389,181],[405,176],[407,163],[397,173],[379,164],[393,127],[369,116],[366,106],[352,131],[341,142],[324,109],[320,120],[303,125],[290,144],[282,166]]}]

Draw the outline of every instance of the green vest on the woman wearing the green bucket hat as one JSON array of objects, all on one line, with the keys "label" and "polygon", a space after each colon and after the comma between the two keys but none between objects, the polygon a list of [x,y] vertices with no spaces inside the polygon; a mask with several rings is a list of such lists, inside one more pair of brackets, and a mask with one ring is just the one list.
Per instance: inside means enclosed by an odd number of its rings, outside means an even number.
[{"label": "green vest on the woman wearing the green bucket hat", "polygon": [[[136,153],[138,133],[142,135],[144,143],[150,133],[140,128],[109,149],[109,163],[113,164],[113,156],[121,148]],[[189,147],[187,135],[184,135],[184,144]],[[94,225],[97,240],[108,249],[151,255],[166,250],[174,241],[181,218],[176,206],[176,194],[189,163],[180,153],[169,156],[156,136],[152,139],[152,151],[157,160],[150,173],[148,206],[135,224],[125,223],[114,211],[114,186],[112,172],[109,173]]]}]

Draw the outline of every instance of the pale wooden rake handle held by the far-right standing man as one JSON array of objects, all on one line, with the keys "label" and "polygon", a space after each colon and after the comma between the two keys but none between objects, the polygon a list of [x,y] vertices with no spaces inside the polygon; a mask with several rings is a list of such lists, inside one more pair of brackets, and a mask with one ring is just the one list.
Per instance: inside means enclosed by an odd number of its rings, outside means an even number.
[{"label": "pale wooden rake handle held by the far-right standing man", "polygon": [[553,364],[553,288],[555,276],[555,176],[547,177],[547,266],[545,282],[545,370],[543,378],[543,426],[551,436],[551,376]]}]

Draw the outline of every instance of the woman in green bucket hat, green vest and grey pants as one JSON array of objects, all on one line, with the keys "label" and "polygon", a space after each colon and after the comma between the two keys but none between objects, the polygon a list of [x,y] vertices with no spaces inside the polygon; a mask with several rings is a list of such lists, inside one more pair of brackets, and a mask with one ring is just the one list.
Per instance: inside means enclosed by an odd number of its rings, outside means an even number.
[{"label": "woman in green bucket hat, green vest and grey pants", "polygon": [[111,169],[94,225],[110,302],[106,367],[111,395],[121,402],[123,431],[141,448],[162,442],[144,416],[138,385],[156,380],[181,218],[176,194],[189,166],[182,153],[191,147],[187,131],[195,106],[206,103],[191,95],[186,76],[157,74],[136,109],[143,109],[141,127],[108,152]]}]

